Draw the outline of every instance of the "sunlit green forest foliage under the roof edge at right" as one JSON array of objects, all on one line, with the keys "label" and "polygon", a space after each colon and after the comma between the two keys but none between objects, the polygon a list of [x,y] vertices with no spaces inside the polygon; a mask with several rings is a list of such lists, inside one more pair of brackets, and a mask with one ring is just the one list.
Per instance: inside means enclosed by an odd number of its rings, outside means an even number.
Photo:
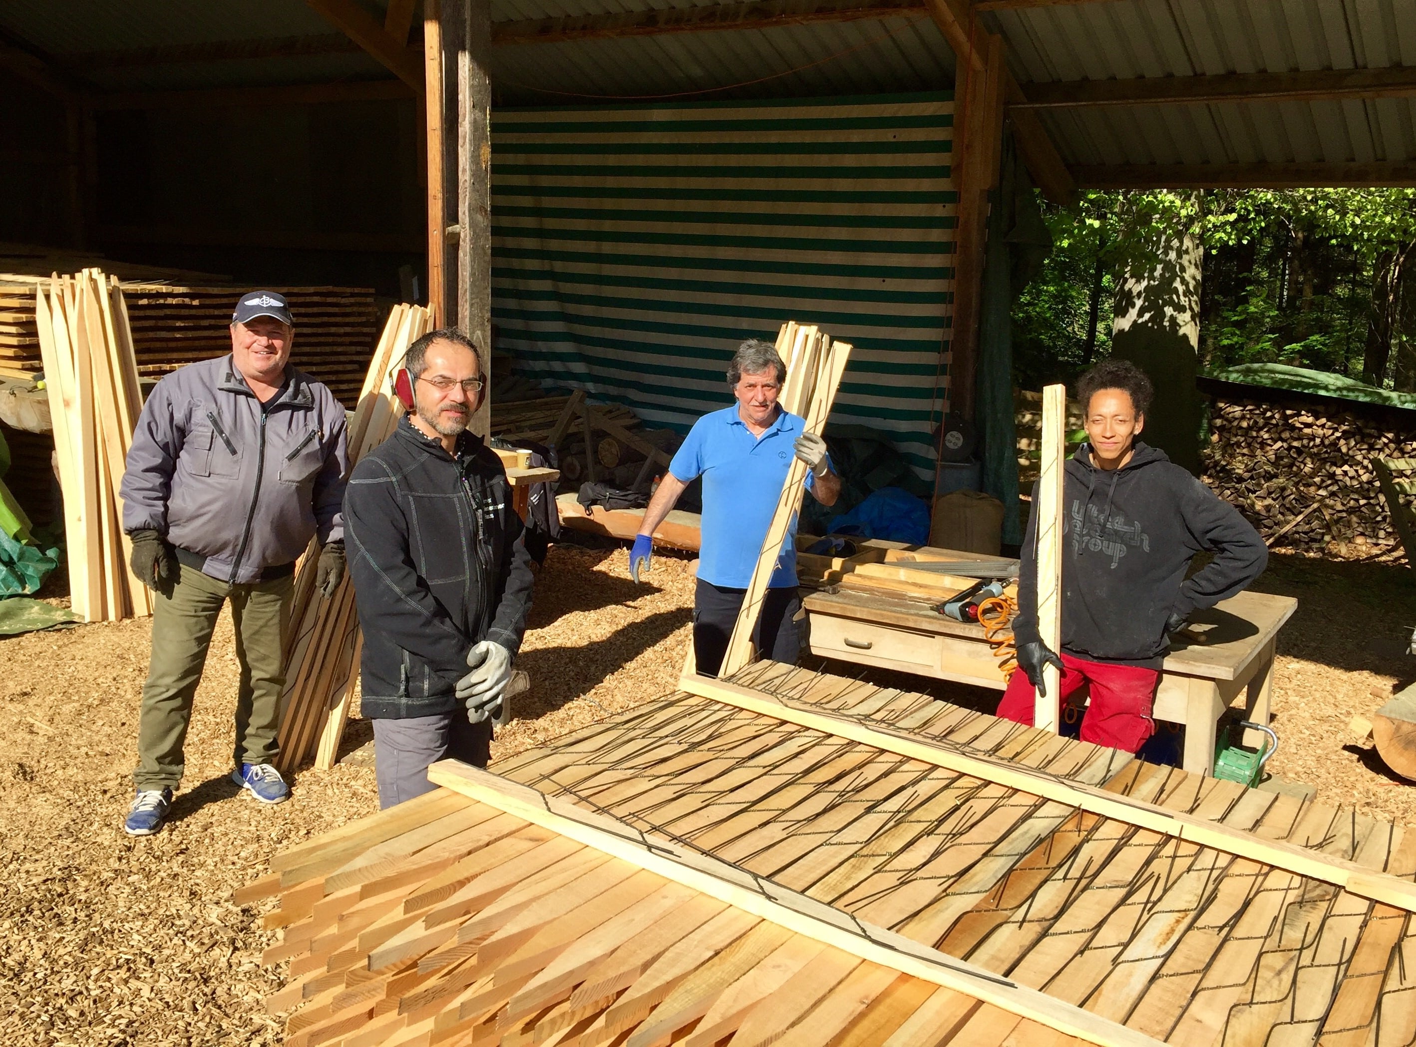
[{"label": "sunlit green forest foliage under the roof edge at right", "polygon": [[1416,190],[1090,191],[1045,217],[1055,248],[1012,313],[1027,388],[1106,356],[1117,272],[1157,227],[1188,227],[1204,370],[1289,363],[1416,391]]}]

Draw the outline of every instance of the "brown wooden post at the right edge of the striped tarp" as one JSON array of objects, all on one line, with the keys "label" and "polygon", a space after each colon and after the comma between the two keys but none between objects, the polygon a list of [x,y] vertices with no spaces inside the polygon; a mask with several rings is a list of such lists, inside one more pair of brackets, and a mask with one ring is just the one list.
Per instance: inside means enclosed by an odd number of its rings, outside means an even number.
[{"label": "brown wooden post at the right edge of the striped tarp", "polygon": [[978,373],[978,303],[983,288],[988,190],[998,184],[1003,153],[1003,40],[978,31],[976,52],[984,68],[959,62],[954,74],[954,160],[950,177],[956,204],[954,305],[949,332],[949,405],[974,414]]}]

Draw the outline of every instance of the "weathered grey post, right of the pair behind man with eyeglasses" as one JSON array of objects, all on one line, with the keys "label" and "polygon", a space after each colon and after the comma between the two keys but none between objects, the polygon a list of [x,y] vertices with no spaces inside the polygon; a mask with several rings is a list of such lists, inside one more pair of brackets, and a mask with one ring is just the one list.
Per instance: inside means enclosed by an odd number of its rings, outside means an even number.
[{"label": "weathered grey post, right of the pair behind man with eyeglasses", "polygon": [[491,431],[491,0],[462,9],[457,51],[457,324],[481,347],[486,394],[472,431]]}]

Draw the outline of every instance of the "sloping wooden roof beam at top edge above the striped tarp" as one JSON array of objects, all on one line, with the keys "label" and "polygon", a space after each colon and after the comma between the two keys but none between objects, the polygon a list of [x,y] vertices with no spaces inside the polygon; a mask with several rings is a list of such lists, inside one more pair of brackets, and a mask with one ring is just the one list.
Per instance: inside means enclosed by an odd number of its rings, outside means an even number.
[{"label": "sloping wooden roof beam at top edge above the striped tarp", "polygon": [[491,43],[559,44],[571,40],[654,37],[668,33],[714,30],[766,30],[816,21],[858,21],[919,14],[925,0],[755,0],[705,7],[668,7],[649,11],[615,11],[562,18],[525,18],[491,26]]}]

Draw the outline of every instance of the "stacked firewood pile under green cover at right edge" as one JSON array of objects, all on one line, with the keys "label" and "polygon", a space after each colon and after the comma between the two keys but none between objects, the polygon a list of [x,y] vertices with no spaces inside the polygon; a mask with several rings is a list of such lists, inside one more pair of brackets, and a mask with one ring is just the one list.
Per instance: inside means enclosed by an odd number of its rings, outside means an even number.
[{"label": "stacked firewood pile under green cover at right edge", "polygon": [[1375,553],[1398,538],[1372,458],[1416,458],[1416,425],[1389,425],[1340,401],[1216,400],[1204,479],[1276,548]]}]

